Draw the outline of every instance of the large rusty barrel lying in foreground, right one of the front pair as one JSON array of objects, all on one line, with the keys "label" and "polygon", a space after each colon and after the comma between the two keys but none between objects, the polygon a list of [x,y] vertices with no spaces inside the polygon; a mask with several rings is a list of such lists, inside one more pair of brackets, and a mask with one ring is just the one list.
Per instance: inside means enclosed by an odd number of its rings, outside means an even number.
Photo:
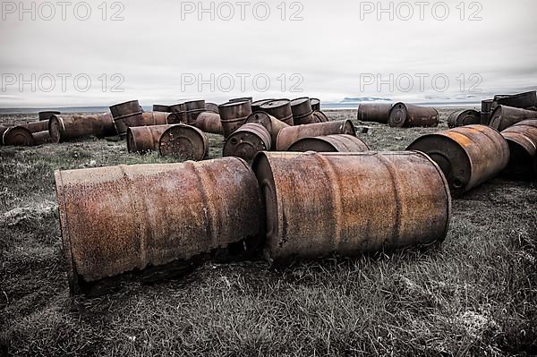
[{"label": "large rusty barrel lying in foreground, right one of the front pair", "polygon": [[276,262],[396,250],[443,241],[451,197],[419,152],[260,153],[253,170]]}]

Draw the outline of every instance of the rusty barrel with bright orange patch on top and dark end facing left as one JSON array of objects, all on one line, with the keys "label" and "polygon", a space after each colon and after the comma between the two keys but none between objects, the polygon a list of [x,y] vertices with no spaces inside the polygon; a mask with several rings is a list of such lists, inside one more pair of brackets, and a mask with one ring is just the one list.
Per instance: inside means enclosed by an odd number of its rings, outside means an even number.
[{"label": "rusty barrel with bright orange patch on top and dark end facing left", "polygon": [[408,150],[422,151],[439,164],[456,197],[494,178],[509,162],[507,141],[485,125],[424,135]]}]

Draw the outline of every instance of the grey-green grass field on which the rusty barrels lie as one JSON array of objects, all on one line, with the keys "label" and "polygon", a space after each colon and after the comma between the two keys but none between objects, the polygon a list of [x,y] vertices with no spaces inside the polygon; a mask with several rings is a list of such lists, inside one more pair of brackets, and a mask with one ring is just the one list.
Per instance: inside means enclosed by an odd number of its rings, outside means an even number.
[{"label": "grey-green grass field on which the rusty barrels lie", "polygon": [[[454,110],[440,110],[440,129]],[[359,136],[375,150],[438,131],[367,126]],[[223,140],[210,144],[210,158],[221,156]],[[72,298],[55,170],[163,162],[107,140],[0,148],[0,355],[537,354],[537,184],[502,178],[454,200],[446,241],[428,249],[289,268],[209,262],[183,278]]]}]

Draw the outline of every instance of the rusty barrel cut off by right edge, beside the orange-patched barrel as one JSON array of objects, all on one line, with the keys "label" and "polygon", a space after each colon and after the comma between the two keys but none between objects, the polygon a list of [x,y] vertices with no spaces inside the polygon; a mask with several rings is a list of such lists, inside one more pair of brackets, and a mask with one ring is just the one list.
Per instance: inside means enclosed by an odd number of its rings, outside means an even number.
[{"label": "rusty barrel cut off by right edge, beside the orange-patched barrel", "polygon": [[537,120],[524,120],[501,132],[509,144],[505,173],[514,178],[537,179]]}]

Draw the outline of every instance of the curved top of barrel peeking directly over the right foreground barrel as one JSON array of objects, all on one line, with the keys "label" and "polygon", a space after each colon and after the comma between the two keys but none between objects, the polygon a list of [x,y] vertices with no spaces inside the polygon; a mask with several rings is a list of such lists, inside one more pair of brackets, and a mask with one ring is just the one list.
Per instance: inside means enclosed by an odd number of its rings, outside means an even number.
[{"label": "curved top of barrel peeking directly over the right foreground barrel", "polygon": [[369,147],[354,135],[337,134],[298,140],[287,151],[362,152]]}]

